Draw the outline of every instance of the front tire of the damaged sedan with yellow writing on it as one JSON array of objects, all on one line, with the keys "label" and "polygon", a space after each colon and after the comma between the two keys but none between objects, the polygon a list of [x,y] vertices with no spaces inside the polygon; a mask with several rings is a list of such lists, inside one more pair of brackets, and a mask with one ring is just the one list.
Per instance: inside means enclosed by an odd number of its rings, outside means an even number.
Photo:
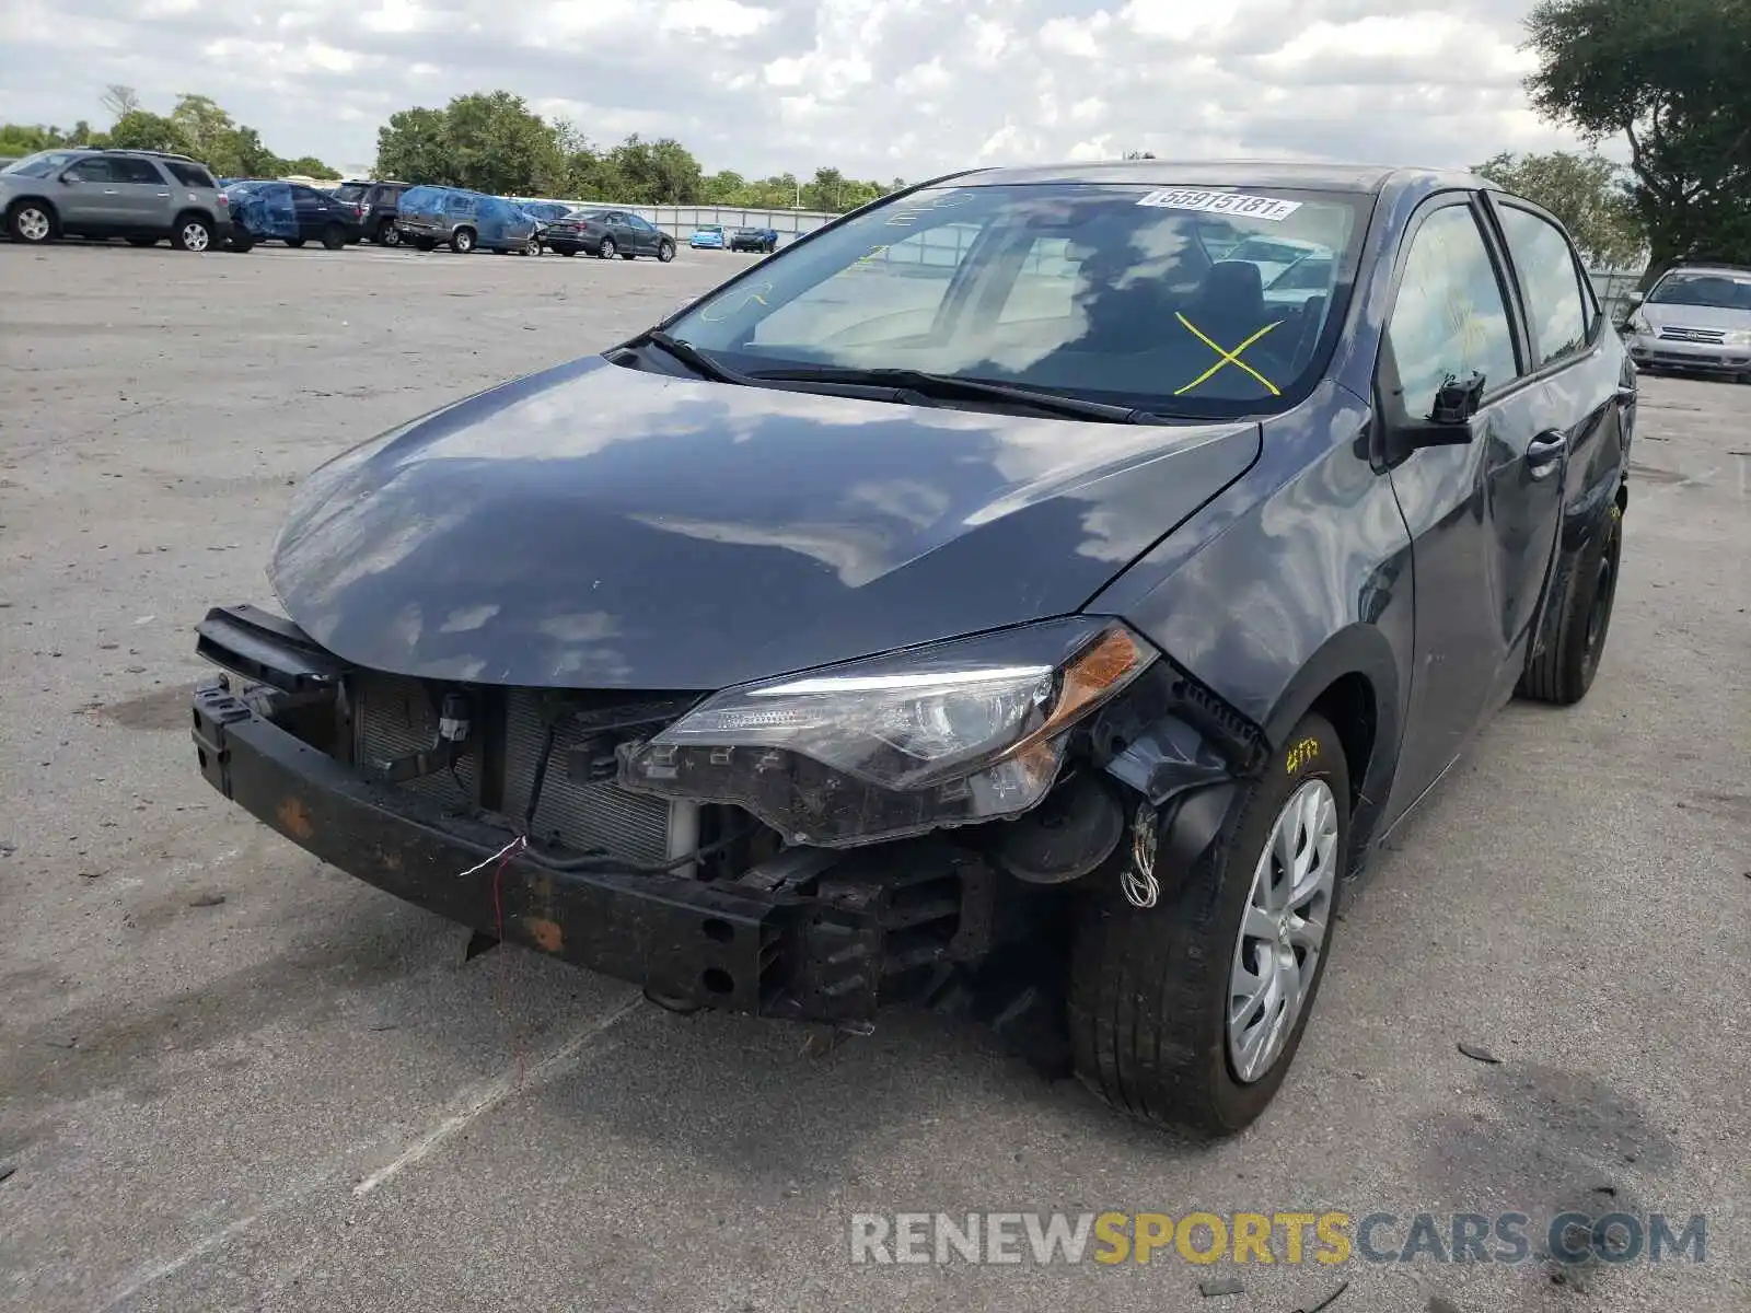
[{"label": "front tire of the damaged sedan with yellow writing on it", "polygon": [[[1294,1063],[1331,956],[1350,847],[1350,772],[1326,718],[1303,716],[1264,776],[1245,788],[1205,856],[1164,879],[1156,907],[1140,910],[1117,889],[1091,896],[1070,963],[1068,1022],[1082,1082],[1138,1120],[1206,1138],[1252,1124]],[[1320,805],[1303,811],[1310,800]],[[1271,842],[1278,826],[1289,826],[1292,840],[1308,821],[1317,821],[1311,828],[1324,837],[1292,849],[1294,863],[1306,851],[1311,865],[1304,872],[1308,896],[1287,903],[1308,916],[1294,921],[1289,912],[1259,910],[1243,921],[1257,877],[1282,870]],[[1266,926],[1269,938],[1243,937],[1243,924]],[[1266,1012],[1278,996],[1262,994],[1234,1028],[1229,1001],[1236,973],[1282,961],[1271,947],[1297,963],[1289,980],[1304,982],[1299,1003],[1292,1015],[1276,1010],[1287,1022],[1273,1029]],[[1271,977],[1266,986],[1273,979],[1283,982]],[[1257,1050],[1240,1045],[1248,1038],[1266,1043]],[[1236,1049],[1252,1052],[1259,1066],[1243,1070]]]}]

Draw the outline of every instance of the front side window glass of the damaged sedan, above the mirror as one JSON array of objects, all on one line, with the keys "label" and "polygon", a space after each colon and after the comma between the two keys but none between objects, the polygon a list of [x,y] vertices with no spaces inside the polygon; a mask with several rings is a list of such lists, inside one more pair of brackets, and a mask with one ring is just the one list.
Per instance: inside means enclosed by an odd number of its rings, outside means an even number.
[{"label": "front side window glass of the damaged sedan, above the mirror", "polygon": [[1448,205],[1417,229],[1387,340],[1415,417],[1431,411],[1448,375],[1476,369],[1485,394],[1518,376],[1508,303],[1471,207]]}]

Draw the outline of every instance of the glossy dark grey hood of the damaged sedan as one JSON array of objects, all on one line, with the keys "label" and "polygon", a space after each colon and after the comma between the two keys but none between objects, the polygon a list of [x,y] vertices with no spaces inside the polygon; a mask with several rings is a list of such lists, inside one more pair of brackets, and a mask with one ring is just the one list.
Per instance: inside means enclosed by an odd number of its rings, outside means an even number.
[{"label": "glossy dark grey hood of the damaged sedan", "polygon": [[1257,453],[588,357],[322,466],[270,576],[357,665],[711,690],[1072,613]]}]

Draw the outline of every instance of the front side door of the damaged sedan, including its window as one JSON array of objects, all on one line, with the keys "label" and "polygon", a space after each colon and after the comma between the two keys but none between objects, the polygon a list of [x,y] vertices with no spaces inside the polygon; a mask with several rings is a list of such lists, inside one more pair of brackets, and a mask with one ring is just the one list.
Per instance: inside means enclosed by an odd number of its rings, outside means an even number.
[{"label": "front side door of the damaged sedan, including its window", "polygon": [[1390,469],[1417,588],[1417,665],[1390,814],[1446,770],[1504,681],[1513,686],[1550,567],[1564,452],[1534,441],[1539,389],[1527,385],[1508,289],[1469,193],[1418,214],[1387,320],[1404,406],[1427,415],[1448,376],[1478,371],[1485,387],[1469,443],[1417,450]]}]

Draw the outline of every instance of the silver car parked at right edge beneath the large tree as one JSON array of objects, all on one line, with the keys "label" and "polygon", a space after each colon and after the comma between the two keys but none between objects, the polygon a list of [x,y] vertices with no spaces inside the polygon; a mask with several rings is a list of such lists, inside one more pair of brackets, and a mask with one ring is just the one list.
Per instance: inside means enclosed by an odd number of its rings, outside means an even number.
[{"label": "silver car parked at right edge beneath the large tree", "polygon": [[1646,298],[1630,294],[1630,359],[1644,373],[1684,369],[1751,383],[1751,268],[1679,264]]}]

